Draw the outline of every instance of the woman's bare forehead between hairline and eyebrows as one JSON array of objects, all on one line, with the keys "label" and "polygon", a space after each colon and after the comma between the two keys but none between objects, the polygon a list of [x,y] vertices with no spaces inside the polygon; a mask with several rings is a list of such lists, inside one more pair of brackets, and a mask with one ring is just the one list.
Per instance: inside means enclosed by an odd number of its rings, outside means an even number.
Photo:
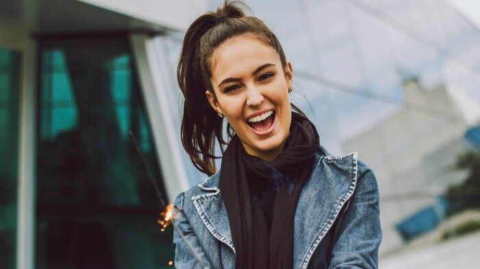
[{"label": "woman's bare forehead between hairline and eyebrows", "polygon": [[213,51],[211,60],[213,80],[251,73],[267,62],[281,66],[276,50],[254,34],[243,34],[226,40]]}]

